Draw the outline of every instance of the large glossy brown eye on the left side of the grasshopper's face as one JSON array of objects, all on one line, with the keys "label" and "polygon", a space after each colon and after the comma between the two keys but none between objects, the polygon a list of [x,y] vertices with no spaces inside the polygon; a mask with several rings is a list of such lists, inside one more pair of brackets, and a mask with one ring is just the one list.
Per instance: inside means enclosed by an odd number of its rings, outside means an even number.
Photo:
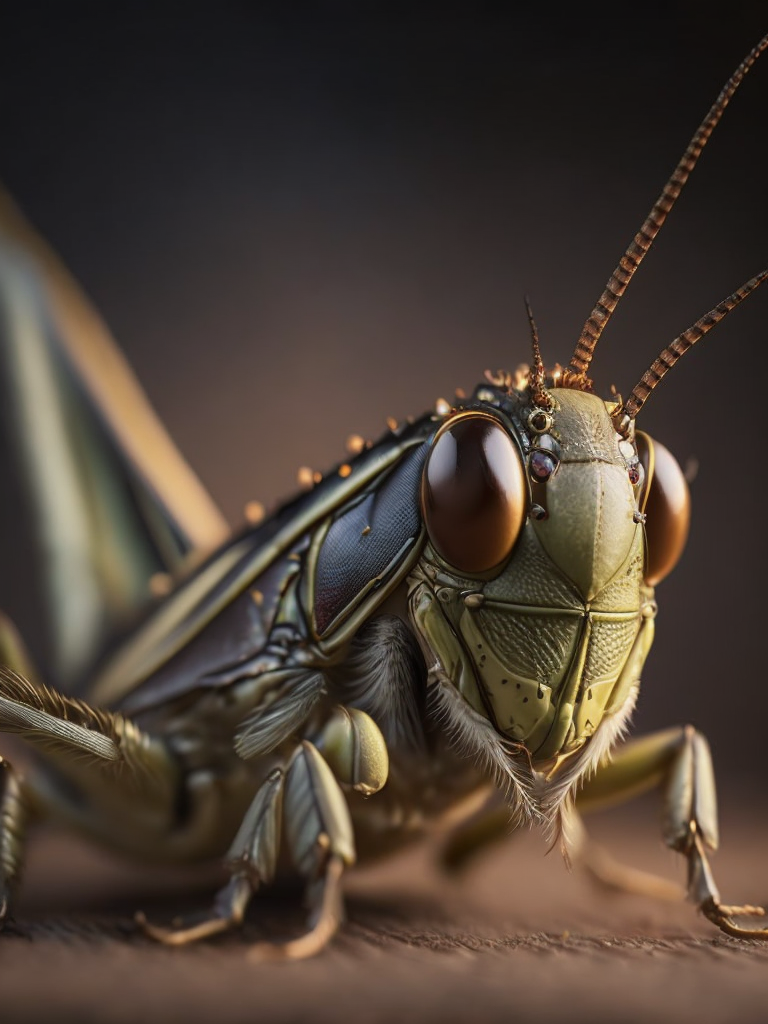
[{"label": "large glossy brown eye on the left side of the grasshopper's face", "polygon": [[462,572],[509,555],[528,505],[517,445],[488,416],[467,415],[437,434],[422,478],[422,513],[438,554]]}]

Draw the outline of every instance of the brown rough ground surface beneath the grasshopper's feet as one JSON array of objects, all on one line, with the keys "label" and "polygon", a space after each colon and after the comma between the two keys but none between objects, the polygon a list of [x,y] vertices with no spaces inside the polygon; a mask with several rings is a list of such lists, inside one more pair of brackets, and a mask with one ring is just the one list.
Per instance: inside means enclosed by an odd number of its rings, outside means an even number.
[{"label": "brown rough ground surface beneath the grasshopper's feet", "polygon": [[[768,814],[729,805],[716,877],[728,902],[768,900]],[[590,828],[628,862],[682,882],[653,804]],[[217,878],[136,871],[70,839],[39,836],[16,924],[0,936],[0,1021],[293,1022],[768,1020],[768,943],[729,938],[686,903],[609,893],[546,854],[536,833],[460,877],[428,846],[347,880],[347,922],[311,961],[254,964],[287,937],[300,899],[259,897],[244,931],[181,949],[138,933],[203,906]]]}]

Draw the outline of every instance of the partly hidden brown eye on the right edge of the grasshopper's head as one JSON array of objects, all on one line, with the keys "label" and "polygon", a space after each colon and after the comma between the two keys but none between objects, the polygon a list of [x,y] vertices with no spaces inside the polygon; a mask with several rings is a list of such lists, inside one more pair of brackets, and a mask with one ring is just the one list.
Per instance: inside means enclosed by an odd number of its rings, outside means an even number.
[{"label": "partly hidden brown eye on the right edge of the grasshopper's head", "polygon": [[655,587],[677,565],[688,539],[690,494],[672,453],[642,431],[637,454],[645,479],[638,506],[645,513],[645,581]]}]

